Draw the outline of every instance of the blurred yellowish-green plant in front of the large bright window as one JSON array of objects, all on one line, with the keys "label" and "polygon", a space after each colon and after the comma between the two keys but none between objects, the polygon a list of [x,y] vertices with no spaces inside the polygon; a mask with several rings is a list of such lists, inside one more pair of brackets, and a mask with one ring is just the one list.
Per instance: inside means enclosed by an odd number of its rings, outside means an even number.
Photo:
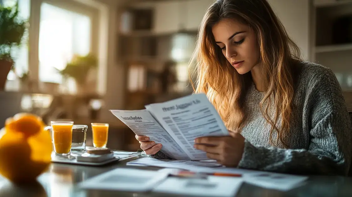
[{"label": "blurred yellowish-green plant in front of the large bright window", "polygon": [[74,56],[66,68],[59,71],[64,77],[72,77],[76,81],[77,92],[84,90],[87,75],[92,68],[96,68],[98,60],[92,54],[87,56]]}]

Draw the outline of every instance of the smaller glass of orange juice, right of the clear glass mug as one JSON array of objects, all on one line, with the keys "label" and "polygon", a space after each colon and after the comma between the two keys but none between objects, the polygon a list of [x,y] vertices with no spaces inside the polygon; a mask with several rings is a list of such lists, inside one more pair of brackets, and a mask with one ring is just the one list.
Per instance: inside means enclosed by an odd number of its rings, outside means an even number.
[{"label": "smaller glass of orange juice, right of the clear glass mug", "polygon": [[91,123],[93,133],[93,146],[96,148],[105,148],[108,142],[108,123]]}]

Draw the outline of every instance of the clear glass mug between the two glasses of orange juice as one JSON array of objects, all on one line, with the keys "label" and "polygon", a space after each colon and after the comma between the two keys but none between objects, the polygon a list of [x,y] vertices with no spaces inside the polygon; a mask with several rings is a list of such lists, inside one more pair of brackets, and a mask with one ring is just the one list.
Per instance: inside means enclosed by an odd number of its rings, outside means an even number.
[{"label": "clear glass mug between the two glasses of orange juice", "polygon": [[87,125],[73,125],[71,151],[86,150]]}]

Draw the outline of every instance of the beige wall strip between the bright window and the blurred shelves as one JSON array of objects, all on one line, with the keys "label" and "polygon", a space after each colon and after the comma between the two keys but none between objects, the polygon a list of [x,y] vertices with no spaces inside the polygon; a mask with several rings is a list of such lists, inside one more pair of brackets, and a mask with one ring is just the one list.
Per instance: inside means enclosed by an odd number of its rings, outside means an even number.
[{"label": "beige wall strip between the bright window and the blurred shelves", "polygon": [[117,64],[117,32],[119,27],[119,5],[126,0],[77,0],[100,9],[99,15],[99,80],[98,92],[103,96],[105,105],[101,110],[101,120],[116,122],[109,109],[124,108],[124,67]]}]

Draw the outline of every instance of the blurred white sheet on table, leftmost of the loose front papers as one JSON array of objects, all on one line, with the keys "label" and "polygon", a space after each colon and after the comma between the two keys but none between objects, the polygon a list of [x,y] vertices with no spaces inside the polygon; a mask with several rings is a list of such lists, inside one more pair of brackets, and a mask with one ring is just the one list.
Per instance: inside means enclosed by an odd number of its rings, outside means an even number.
[{"label": "blurred white sheet on table, leftmost of the loose front papers", "polygon": [[168,176],[167,173],[118,168],[78,184],[85,189],[150,191]]}]

